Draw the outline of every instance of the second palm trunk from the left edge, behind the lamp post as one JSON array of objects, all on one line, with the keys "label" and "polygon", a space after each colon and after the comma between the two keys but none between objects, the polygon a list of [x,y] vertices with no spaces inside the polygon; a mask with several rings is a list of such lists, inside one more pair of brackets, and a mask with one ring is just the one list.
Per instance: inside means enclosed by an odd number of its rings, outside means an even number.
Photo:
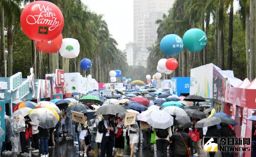
[{"label": "second palm trunk from the left edge, behind the lamp post", "polygon": [[7,47],[8,47],[8,77],[12,76],[12,46],[13,46],[13,38],[12,38],[12,22],[9,21],[7,28]]}]

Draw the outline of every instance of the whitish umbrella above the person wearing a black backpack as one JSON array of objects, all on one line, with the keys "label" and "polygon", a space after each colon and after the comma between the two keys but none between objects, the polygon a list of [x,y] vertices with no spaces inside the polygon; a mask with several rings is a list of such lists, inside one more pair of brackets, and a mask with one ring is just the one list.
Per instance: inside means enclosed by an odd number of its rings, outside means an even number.
[{"label": "whitish umbrella above the person wearing a black backpack", "polygon": [[147,117],[147,123],[153,128],[166,129],[173,125],[173,117],[162,110],[150,112]]}]

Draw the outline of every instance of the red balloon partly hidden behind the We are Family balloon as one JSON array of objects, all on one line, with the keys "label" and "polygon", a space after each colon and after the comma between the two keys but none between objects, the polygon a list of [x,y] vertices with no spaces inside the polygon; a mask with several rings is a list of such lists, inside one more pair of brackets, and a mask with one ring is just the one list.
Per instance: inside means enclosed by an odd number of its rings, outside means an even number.
[{"label": "red balloon partly hidden behind the We are Family balloon", "polygon": [[60,34],[57,38],[52,41],[37,41],[35,42],[36,50],[45,53],[56,53],[60,50],[62,44],[62,35]]}]

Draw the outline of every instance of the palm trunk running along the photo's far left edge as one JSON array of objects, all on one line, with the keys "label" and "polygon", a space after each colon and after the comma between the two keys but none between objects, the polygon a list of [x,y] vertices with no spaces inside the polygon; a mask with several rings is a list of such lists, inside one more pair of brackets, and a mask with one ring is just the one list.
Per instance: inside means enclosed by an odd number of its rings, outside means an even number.
[{"label": "palm trunk running along the photo's far left edge", "polygon": [[1,38],[1,65],[0,65],[0,76],[5,76],[4,70],[4,61],[5,61],[5,54],[4,54],[4,7],[2,6],[2,2],[0,1],[0,38]]}]

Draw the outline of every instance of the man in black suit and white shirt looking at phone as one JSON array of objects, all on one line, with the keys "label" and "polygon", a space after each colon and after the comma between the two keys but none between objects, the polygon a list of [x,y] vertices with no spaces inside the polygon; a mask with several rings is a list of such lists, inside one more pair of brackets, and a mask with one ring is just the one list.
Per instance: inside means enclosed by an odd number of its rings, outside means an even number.
[{"label": "man in black suit and white shirt looking at phone", "polygon": [[114,122],[108,121],[109,115],[103,115],[104,120],[99,122],[98,131],[103,133],[101,140],[101,153],[100,157],[112,157],[113,143],[114,143]]}]

